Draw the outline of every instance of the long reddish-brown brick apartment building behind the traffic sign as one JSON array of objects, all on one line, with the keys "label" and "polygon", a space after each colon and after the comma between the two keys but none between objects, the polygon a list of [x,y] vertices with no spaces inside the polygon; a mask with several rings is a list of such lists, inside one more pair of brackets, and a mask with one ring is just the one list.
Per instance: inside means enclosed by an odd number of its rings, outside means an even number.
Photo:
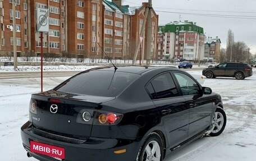
[{"label": "long reddish-brown brick apartment building behind the traffic sign", "polygon": [[[13,53],[13,19],[16,18],[17,56],[24,53],[72,53],[76,56],[102,58],[102,49],[112,58],[132,58],[138,41],[141,22],[148,3],[139,7],[122,6],[121,0],[16,0],[15,16],[12,1],[0,1],[2,56]],[[48,8],[49,32],[36,31],[36,8]],[[152,11],[152,58],[156,54],[158,15]],[[147,47],[147,26],[143,36]],[[11,44],[11,45],[10,45]],[[100,47],[99,47],[100,45]],[[144,51],[145,53],[145,51]]]}]

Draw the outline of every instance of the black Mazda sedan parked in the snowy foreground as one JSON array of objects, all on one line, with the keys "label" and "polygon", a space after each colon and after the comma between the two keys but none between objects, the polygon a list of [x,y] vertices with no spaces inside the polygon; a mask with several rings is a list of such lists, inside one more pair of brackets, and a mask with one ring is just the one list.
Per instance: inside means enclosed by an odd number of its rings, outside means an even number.
[{"label": "black Mazda sedan parked in the snowy foreground", "polygon": [[170,67],[98,67],[32,94],[21,127],[38,160],[163,160],[226,126],[221,96]]}]

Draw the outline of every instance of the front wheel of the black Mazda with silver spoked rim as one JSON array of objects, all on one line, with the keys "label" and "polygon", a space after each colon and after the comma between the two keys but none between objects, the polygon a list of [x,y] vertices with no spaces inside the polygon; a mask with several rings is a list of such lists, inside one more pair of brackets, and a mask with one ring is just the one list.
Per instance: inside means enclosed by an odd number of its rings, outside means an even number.
[{"label": "front wheel of the black Mazda with silver spoked rim", "polygon": [[226,126],[226,122],[227,117],[225,111],[221,107],[217,107],[212,119],[212,129],[209,136],[220,135]]}]

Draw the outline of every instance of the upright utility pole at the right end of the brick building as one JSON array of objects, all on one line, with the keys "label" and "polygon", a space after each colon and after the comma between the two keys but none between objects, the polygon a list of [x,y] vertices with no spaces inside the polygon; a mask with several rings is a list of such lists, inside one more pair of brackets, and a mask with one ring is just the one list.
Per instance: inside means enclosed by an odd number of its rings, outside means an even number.
[{"label": "upright utility pole at the right end of the brick building", "polygon": [[148,34],[147,34],[147,60],[146,60],[146,66],[150,66],[150,59],[151,59],[151,35],[152,35],[152,18],[151,18],[151,11],[152,11],[152,0],[148,1]]}]

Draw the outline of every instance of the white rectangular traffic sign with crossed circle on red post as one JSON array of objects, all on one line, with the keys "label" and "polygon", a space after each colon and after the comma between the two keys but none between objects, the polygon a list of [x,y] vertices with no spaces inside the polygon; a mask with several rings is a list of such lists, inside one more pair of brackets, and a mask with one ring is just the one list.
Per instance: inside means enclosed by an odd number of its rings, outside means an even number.
[{"label": "white rectangular traffic sign with crossed circle on red post", "polygon": [[36,30],[38,32],[49,32],[49,10],[36,8]]}]

